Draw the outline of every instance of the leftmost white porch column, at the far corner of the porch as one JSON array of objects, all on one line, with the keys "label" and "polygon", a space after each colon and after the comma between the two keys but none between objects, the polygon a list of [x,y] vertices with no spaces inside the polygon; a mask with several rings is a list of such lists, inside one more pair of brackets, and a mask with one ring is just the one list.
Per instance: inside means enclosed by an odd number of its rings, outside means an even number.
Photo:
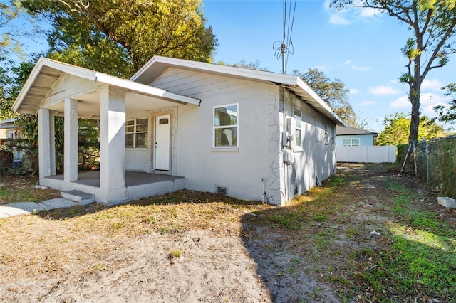
[{"label": "leftmost white porch column, at the far corner of the porch", "polygon": [[46,108],[38,109],[38,162],[40,179],[51,176],[51,117]]}]

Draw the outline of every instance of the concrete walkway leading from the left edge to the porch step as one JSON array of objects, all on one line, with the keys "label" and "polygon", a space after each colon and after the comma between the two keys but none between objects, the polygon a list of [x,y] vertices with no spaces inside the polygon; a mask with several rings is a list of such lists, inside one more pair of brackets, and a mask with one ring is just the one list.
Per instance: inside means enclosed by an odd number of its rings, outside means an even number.
[{"label": "concrete walkway leading from the left edge to the porch step", "polygon": [[65,198],[54,198],[41,202],[18,202],[0,205],[0,219],[17,215],[26,215],[28,213],[38,213],[39,211],[49,211],[51,209],[71,207],[81,205],[69,201]]}]

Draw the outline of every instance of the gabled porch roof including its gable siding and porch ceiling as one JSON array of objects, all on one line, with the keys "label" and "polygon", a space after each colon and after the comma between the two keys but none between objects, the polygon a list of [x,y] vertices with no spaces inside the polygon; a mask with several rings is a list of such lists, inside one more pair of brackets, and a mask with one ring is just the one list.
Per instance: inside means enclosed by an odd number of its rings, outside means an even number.
[{"label": "gabled porch roof including its gable siding and porch ceiling", "polygon": [[[70,79],[71,83],[66,83]],[[67,85],[66,85],[67,84]],[[127,110],[154,110],[160,107],[199,105],[200,100],[178,95],[157,87],[98,73],[86,68],[40,58],[31,71],[12,110],[34,114],[43,105],[56,112],[63,110],[63,96],[81,102],[81,115],[93,115],[99,109],[99,90],[110,85],[125,90]],[[66,87],[65,92],[58,87]],[[62,108],[60,108],[62,107]]]}]

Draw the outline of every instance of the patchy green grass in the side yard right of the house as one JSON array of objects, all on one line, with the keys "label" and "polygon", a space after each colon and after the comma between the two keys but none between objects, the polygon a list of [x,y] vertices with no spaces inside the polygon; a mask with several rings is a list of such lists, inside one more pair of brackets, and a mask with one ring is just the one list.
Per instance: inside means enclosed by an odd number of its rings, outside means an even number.
[{"label": "patchy green grass in the side yard right of the house", "polygon": [[340,171],[249,224],[274,226],[284,249],[301,252],[306,270],[335,285],[344,301],[455,302],[454,219],[426,209],[423,188],[416,193],[404,177]]}]

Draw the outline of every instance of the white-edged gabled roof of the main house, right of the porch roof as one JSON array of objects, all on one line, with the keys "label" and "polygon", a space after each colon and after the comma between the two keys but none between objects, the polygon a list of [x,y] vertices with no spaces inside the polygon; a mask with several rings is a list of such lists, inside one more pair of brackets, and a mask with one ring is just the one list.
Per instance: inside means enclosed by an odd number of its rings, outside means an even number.
[{"label": "white-edged gabled roof of the main house, right of the porch roof", "polygon": [[232,66],[214,65],[190,60],[167,58],[154,56],[130,80],[137,83],[150,84],[155,78],[162,74],[167,68],[181,68],[185,70],[194,70],[201,73],[210,73],[214,75],[224,75],[232,78],[251,80],[260,83],[274,83],[285,87],[309,104],[315,110],[336,124],[345,126],[338,115],[331,107],[319,97],[314,90],[309,87],[301,78],[296,75],[285,75],[281,73],[271,73],[262,70],[249,70],[247,68],[234,68]]}]

